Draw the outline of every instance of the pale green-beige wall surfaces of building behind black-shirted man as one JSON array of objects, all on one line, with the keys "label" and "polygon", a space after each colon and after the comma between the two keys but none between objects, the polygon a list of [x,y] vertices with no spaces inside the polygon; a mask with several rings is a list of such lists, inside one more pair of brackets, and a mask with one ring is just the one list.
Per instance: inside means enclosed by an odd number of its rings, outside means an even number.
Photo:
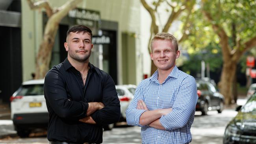
[{"label": "pale green-beige wall surfaces of building behind black-shirted man", "polygon": [[[62,6],[67,0],[48,0],[53,7]],[[27,1],[22,0],[22,67],[23,81],[31,79],[30,74],[35,72],[35,56],[38,51],[42,35],[43,20],[40,10],[32,11]],[[122,42],[121,33],[135,33],[140,35],[140,1],[139,0],[83,0],[78,7],[100,11],[102,20],[118,22],[118,79],[122,84]],[[133,78],[135,84],[142,79],[140,38],[135,38],[134,51],[129,55],[135,55],[134,66],[136,69]],[[139,67],[139,68],[135,68]]]}]

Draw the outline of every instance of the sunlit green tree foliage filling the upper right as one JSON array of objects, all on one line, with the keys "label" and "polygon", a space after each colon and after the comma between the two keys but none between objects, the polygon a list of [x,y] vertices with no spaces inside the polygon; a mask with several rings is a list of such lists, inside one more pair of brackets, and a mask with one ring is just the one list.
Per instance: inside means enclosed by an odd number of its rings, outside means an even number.
[{"label": "sunlit green tree foliage filling the upper right", "polygon": [[[190,59],[182,66],[185,71],[200,72],[200,61],[210,63],[211,71],[221,68],[222,56],[219,46],[220,38],[213,31],[212,24],[221,26],[228,35],[228,43],[232,49],[236,48],[236,40],[241,43],[256,35],[256,1],[255,0],[204,0],[204,9],[199,2],[189,17],[189,37],[182,43],[190,54]],[[206,19],[203,10],[210,13],[213,20]],[[181,17],[185,21],[185,16]],[[183,26],[182,26],[183,27]],[[240,59],[241,72],[245,73],[246,57],[256,54],[251,49]],[[217,52],[217,53],[216,53]]]}]

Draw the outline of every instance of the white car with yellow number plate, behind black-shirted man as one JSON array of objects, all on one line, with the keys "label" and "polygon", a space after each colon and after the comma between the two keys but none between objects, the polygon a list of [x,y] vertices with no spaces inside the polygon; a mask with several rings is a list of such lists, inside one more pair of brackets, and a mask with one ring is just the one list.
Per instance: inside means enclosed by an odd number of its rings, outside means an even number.
[{"label": "white car with yellow number plate, behind black-shirted man", "polygon": [[44,79],[23,82],[10,101],[11,119],[20,137],[28,137],[37,128],[47,129],[49,116],[44,97]]}]

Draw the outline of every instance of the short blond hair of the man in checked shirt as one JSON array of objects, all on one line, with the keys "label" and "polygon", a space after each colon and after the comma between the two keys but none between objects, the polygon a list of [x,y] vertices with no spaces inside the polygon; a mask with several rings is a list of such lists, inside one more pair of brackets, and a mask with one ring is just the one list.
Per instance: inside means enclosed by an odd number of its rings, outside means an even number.
[{"label": "short blond hair of the man in checked shirt", "polygon": [[151,52],[152,52],[153,42],[157,39],[171,41],[171,43],[173,44],[173,46],[175,48],[175,51],[176,52],[178,51],[178,42],[177,42],[177,39],[173,35],[171,35],[170,33],[158,33],[151,39],[151,42],[150,42]]}]

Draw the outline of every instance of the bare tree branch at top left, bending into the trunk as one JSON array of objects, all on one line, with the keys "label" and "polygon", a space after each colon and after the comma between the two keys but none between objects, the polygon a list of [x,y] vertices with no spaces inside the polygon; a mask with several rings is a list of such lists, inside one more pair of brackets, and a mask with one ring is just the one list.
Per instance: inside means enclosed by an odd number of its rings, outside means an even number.
[{"label": "bare tree branch at top left, bending into the trunk", "polygon": [[30,6],[30,9],[45,8],[48,17],[51,17],[53,15],[52,7],[46,0],[39,0],[34,3],[31,0],[27,0],[27,2],[28,5]]}]

